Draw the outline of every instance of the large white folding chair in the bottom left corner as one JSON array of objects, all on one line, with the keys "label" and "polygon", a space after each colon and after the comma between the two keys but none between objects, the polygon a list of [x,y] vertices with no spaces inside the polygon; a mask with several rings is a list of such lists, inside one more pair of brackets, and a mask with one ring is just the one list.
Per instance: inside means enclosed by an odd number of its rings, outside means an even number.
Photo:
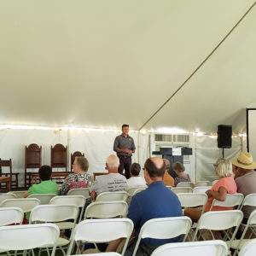
[{"label": "large white folding chair in the bottom left corner", "polygon": [[[0,250],[18,251],[37,247],[53,247],[51,256],[55,255],[56,241],[60,230],[55,224],[27,224],[0,227]],[[33,253],[34,255],[34,253]]]}]

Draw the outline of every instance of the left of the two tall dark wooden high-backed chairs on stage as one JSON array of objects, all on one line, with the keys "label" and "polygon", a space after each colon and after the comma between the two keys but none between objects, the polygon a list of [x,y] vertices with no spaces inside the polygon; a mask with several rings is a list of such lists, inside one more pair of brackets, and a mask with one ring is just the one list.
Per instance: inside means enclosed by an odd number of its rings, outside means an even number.
[{"label": "left of the two tall dark wooden high-backed chairs on stage", "polygon": [[42,166],[42,146],[36,143],[25,147],[25,187],[31,186],[32,172],[27,172],[27,169],[36,169]]}]

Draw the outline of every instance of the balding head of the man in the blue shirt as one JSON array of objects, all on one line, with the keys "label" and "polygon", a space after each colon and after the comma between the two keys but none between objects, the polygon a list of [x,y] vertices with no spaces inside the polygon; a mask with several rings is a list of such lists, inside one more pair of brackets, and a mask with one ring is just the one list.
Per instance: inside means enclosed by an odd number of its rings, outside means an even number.
[{"label": "balding head of the man in the blue shirt", "polygon": [[163,177],[166,172],[166,164],[164,160],[159,157],[150,157],[145,162],[145,169],[151,178]]}]

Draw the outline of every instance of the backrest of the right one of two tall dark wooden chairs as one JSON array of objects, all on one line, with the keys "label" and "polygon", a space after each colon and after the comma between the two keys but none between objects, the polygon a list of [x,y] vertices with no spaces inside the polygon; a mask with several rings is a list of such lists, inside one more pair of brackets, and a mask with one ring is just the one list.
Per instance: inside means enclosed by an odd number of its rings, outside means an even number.
[{"label": "backrest of the right one of two tall dark wooden chairs", "polygon": [[67,146],[55,144],[50,147],[50,166],[52,168],[64,168],[67,172]]}]

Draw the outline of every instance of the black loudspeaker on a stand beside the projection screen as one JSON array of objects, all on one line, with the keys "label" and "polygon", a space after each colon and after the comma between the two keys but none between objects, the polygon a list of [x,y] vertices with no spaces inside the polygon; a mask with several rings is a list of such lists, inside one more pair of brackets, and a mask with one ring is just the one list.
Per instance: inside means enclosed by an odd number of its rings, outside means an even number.
[{"label": "black loudspeaker on a stand beside the projection screen", "polygon": [[218,148],[232,147],[232,125],[218,125]]}]

